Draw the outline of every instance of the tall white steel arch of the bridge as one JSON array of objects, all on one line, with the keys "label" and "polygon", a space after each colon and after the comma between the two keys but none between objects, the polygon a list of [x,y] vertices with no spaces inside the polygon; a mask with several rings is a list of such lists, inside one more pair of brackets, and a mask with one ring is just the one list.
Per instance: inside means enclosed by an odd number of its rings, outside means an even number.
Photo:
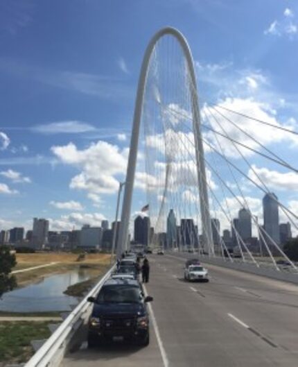
[{"label": "tall white steel arch of the bridge", "polygon": [[186,63],[189,68],[189,74],[191,76],[191,110],[193,114],[193,133],[195,136],[195,157],[197,162],[198,170],[198,182],[199,182],[199,193],[200,193],[200,210],[202,219],[202,235],[204,239],[204,248],[209,252],[210,255],[214,254],[212,232],[211,232],[211,220],[209,214],[209,200],[207,191],[207,180],[206,170],[204,164],[204,150],[202,144],[202,137],[200,132],[200,110],[198,105],[198,94],[197,94],[197,83],[195,80],[195,69],[193,67],[193,57],[191,56],[191,49],[187,43],[184,35],[172,27],[162,28],[160,31],[150,40],[143,62],[141,66],[141,73],[139,76],[139,84],[137,89],[137,98],[134,107],[134,121],[132,126],[132,136],[130,140],[130,154],[128,157],[128,169],[126,173],[126,185],[123,197],[123,206],[121,214],[121,225],[119,230],[119,237],[117,241],[117,256],[120,257],[123,250],[128,248],[128,226],[130,222],[130,211],[132,205],[132,190],[134,187],[134,173],[137,163],[137,151],[139,143],[139,130],[141,124],[141,113],[143,108],[143,96],[146,86],[148,65],[150,57],[155,44],[164,35],[172,35],[179,42]]}]

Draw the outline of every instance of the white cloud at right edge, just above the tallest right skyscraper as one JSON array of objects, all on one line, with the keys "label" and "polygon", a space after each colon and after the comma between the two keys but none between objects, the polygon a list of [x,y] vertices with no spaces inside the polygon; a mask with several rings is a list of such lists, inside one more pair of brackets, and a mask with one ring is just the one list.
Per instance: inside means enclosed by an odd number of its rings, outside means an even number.
[{"label": "white cloud at right edge, just above the tallest right skyscraper", "polygon": [[[275,190],[289,190],[289,191],[298,191],[298,174],[294,172],[286,172],[281,173],[278,171],[272,171],[267,168],[258,168],[254,164],[252,168],[256,172],[256,174],[265,182],[265,184],[271,189]],[[259,183],[260,181],[256,177],[252,169],[249,169],[248,176],[255,182]]]}]

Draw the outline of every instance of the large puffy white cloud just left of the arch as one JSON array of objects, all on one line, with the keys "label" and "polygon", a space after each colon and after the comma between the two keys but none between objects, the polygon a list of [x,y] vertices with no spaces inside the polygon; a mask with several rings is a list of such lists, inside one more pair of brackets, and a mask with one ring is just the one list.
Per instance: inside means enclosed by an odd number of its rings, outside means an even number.
[{"label": "large puffy white cloud just left of the arch", "polygon": [[78,149],[75,144],[53,146],[51,151],[60,162],[82,171],[71,179],[69,187],[93,194],[113,194],[119,188],[114,177],[124,174],[127,160],[118,146],[98,141],[88,148]]}]

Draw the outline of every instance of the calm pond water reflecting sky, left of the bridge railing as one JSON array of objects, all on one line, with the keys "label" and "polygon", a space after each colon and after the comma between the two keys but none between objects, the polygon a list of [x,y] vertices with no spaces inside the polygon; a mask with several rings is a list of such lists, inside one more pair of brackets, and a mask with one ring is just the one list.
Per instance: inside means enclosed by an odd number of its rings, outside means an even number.
[{"label": "calm pond water reflecting sky, left of the bridge railing", "polygon": [[78,298],[67,296],[63,292],[69,285],[89,278],[88,269],[51,275],[27,287],[4,293],[0,299],[0,311],[69,311],[71,305],[78,304]]}]

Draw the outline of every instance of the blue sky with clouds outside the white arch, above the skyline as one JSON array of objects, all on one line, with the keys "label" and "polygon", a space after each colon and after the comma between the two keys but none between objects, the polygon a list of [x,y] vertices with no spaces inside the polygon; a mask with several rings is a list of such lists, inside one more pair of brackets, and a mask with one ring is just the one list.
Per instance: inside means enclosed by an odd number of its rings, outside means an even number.
[{"label": "blue sky with clouds outside the white arch, above the skyline", "polygon": [[[298,130],[297,1],[2,0],[0,229],[30,228],[33,216],[58,230],[114,218],[143,51],[166,25],[189,41],[202,105]],[[295,164],[295,139],[273,135],[262,142]],[[296,175],[253,158],[297,210]],[[139,190],[132,210],[145,200]]]}]

